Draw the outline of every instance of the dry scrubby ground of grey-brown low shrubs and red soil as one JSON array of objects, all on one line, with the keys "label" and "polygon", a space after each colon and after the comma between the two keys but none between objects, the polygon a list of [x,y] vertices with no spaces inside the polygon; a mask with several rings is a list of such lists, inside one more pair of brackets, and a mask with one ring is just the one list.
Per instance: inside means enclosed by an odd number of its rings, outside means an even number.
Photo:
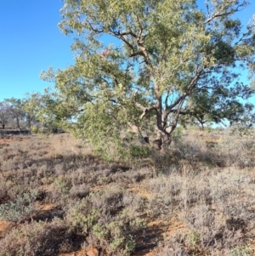
[{"label": "dry scrubby ground of grey-brown low shrubs and red soil", "polygon": [[104,162],[69,134],[0,139],[0,255],[254,255],[253,134],[184,131]]}]

